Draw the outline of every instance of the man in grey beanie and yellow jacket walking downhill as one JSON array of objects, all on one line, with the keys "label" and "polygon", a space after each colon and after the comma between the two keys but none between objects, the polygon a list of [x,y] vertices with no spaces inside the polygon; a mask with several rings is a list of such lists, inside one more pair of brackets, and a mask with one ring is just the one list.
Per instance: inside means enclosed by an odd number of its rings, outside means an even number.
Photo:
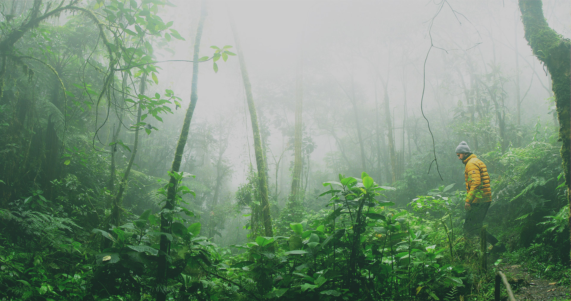
[{"label": "man in grey beanie and yellow jacket walking downhill", "polygon": [[[458,159],[466,166],[464,176],[466,179],[466,202],[464,208],[466,210],[466,219],[464,221],[464,230],[469,235],[477,234],[482,227],[490,203],[492,202],[492,190],[490,189],[490,176],[486,164],[472,154],[468,144],[463,141],[456,147],[456,155]],[[505,251],[505,247],[495,246],[498,242],[489,232],[486,240],[492,244],[493,252]]]}]

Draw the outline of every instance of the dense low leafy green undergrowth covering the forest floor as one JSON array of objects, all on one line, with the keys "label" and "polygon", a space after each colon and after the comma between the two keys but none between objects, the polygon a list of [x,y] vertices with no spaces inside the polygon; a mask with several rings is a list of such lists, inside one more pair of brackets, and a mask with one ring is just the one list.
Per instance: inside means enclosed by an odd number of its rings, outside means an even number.
[{"label": "dense low leafy green undergrowth covering the forest floor", "polygon": [[[569,243],[569,208],[553,210],[560,203],[561,177],[538,166],[545,160],[533,155],[554,151],[545,143],[532,143],[484,156],[498,163],[515,162],[510,176],[498,177],[500,191],[537,195],[536,188],[520,190],[525,183],[512,182],[517,172],[534,178],[554,175],[546,179],[553,182],[554,192],[541,195],[553,200],[535,207],[545,215],[536,223],[538,233],[531,244],[522,245],[524,239],[517,238],[527,233],[525,212],[512,228],[504,227],[497,213],[490,214],[488,223],[489,231],[513,252],[502,260],[531,260],[537,275],[568,282],[569,258],[562,246]],[[486,272],[482,266],[480,240],[461,230],[465,192],[453,189],[455,184],[396,207],[390,195],[395,188],[379,186],[365,172],[360,178],[339,175],[323,183],[318,196],[325,202],[322,210],[283,208],[282,216],[298,220],[276,220],[275,236],[250,235],[245,243],[219,247],[205,236],[199,214],[188,209],[195,193],[186,183],[193,176],[172,176],[177,179],[172,210],[160,208],[167,184],[155,191],[157,204],[124,211],[126,219],[116,225],[104,224],[111,212],[100,215],[89,206],[70,207],[70,196],[103,206],[108,193],[80,190],[73,177],[53,183],[65,196],[50,200],[35,190],[0,210],[2,227],[10,229],[0,235],[2,300],[147,300],[159,290],[170,300],[454,300],[492,294],[493,270]],[[255,209],[252,179],[250,206]],[[524,200],[515,195],[494,204],[490,212],[518,202]],[[556,205],[550,207],[550,202]],[[160,231],[160,214],[171,218],[170,231]],[[169,280],[160,285],[156,267],[162,235],[170,244]],[[490,266],[498,255],[488,256]]]}]

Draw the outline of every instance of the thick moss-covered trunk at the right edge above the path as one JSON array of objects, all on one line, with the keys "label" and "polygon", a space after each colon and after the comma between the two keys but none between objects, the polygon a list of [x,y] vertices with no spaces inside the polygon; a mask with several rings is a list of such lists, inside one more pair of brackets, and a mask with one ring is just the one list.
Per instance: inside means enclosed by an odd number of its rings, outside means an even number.
[{"label": "thick moss-covered trunk at the right edge above the path", "polygon": [[[567,186],[567,198],[571,205],[571,177],[569,157],[571,132],[569,131],[571,83],[569,63],[571,42],[551,29],[545,20],[541,1],[520,1],[521,21],[524,23],[525,39],[533,54],[545,64],[552,80],[553,95],[559,121],[559,140],[562,141],[561,158]],[[569,217],[571,226],[571,216]]]}]

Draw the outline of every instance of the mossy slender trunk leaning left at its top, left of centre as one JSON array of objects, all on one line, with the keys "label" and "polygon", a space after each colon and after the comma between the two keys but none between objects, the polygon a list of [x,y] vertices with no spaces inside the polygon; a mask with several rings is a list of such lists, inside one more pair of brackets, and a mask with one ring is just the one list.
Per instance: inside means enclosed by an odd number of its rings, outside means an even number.
[{"label": "mossy slender trunk leaning left at its top, left of centre", "polygon": [[272,230],[272,218],[270,216],[270,202],[268,202],[268,179],[266,176],[266,160],[265,154],[262,149],[262,139],[260,139],[260,127],[258,125],[258,114],[256,114],[256,107],[254,105],[254,96],[252,95],[252,85],[246,70],[246,62],[242,54],[242,47],[240,46],[240,39],[236,31],[234,22],[231,21],[232,33],[234,34],[234,41],[236,43],[236,51],[238,52],[238,59],[240,61],[240,70],[242,70],[242,79],[244,81],[244,90],[246,90],[246,101],[248,102],[248,110],[250,111],[250,119],[252,121],[252,133],[254,134],[254,151],[256,154],[256,166],[258,167],[258,183],[260,198],[262,204],[262,219],[264,223],[264,234],[266,236],[274,236]]}]

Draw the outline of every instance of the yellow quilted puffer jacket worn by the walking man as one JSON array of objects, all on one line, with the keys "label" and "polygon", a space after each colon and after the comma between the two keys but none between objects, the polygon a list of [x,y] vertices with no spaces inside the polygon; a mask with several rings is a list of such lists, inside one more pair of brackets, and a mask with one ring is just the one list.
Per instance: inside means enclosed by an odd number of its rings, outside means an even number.
[{"label": "yellow quilted puffer jacket worn by the walking man", "polygon": [[486,164],[476,155],[472,154],[462,161],[466,165],[464,176],[466,178],[467,203],[484,203],[492,200],[490,176]]}]

